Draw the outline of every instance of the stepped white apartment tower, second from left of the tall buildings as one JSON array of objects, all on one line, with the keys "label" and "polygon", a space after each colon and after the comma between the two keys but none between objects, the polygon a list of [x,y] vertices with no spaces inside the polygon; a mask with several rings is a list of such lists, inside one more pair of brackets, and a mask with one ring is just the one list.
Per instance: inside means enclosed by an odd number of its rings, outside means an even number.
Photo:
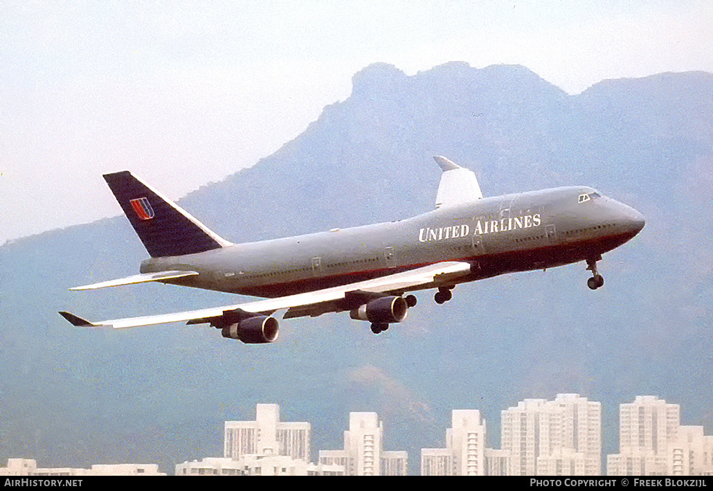
[{"label": "stepped white apartment tower, second from left of the tall buildings", "polygon": [[319,450],[322,465],[344,465],[347,475],[406,475],[406,452],[383,449],[384,427],[376,412],[350,412],[344,450]]}]

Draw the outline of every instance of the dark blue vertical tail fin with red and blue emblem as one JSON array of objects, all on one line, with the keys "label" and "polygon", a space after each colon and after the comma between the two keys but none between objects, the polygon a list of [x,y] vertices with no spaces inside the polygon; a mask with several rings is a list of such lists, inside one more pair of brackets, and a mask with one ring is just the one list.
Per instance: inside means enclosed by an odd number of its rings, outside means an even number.
[{"label": "dark blue vertical tail fin with red and blue emblem", "polygon": [[152,258],[230,246],[129,171],[105,174],[104,179]]}]

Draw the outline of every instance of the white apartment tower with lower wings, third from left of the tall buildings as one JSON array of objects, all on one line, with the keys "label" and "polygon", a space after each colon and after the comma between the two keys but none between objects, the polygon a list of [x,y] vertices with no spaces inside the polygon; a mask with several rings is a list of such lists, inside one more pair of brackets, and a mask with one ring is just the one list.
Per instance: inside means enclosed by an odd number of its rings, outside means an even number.
[{"label": "white apartment tower with lower wings, third from left of the tall buildings", "polygon": [[421,475],[485,475],[486,422],[478,410],[453,410],[446,448],[421,450]]}]

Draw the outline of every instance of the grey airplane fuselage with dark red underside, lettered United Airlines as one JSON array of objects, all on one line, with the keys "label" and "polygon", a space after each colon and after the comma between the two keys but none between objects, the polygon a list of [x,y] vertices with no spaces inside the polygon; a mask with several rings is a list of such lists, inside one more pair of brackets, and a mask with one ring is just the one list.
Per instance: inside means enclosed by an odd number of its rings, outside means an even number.
[{"label": "grey airplane fuselage with dark red underside, lettered United Airlines", "polygon": [[483,198],[390,223],[150,258],[140,270],[196,271],[165,283],[267,298],[443,261],[471,264],[461,283],[595,261],[643,225],[633,208],[573,186]]}]

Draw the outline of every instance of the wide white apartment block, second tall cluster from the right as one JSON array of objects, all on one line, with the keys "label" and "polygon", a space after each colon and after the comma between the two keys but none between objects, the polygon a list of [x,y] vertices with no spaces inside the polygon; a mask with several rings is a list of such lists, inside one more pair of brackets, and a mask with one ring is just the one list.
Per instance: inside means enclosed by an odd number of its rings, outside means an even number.
[{"label": "wide white apartment block, second tall cluster from the right", "polygon": [[600,475],[602,406],[579,394],[503,410],[501,435],[514,475]]}]

